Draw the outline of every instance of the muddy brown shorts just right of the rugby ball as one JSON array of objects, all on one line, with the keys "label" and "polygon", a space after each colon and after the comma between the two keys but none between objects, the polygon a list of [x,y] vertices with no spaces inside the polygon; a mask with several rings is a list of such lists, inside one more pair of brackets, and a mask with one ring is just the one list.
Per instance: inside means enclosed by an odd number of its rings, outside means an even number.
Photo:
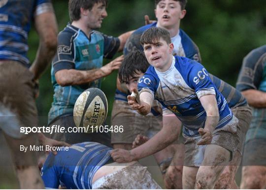
[{"label": "muddy brown shorts just right of the rugby ball", "polygon": [[142,116],[132,110],[128,102],[115,100],[112,110],[112,126],[123,126],[123,132],[111,134],[111,143],[133,143],[138,134],[153,137],[162,129],[162,116],[153,114]]}]

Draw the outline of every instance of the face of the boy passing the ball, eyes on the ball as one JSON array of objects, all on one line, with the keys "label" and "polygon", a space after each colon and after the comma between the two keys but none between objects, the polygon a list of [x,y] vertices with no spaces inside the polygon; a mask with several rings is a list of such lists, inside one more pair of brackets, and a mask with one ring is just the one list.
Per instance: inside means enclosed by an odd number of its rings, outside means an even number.
[{"label": "face of the boy passing the ball, eyes on the ball", "polygon": [[157,68],[159,71],[164,72],[171,65],[171,58],[173,52],[173,44],[160,38],[154,44],[144,44],[144,53],[150,65]]}]

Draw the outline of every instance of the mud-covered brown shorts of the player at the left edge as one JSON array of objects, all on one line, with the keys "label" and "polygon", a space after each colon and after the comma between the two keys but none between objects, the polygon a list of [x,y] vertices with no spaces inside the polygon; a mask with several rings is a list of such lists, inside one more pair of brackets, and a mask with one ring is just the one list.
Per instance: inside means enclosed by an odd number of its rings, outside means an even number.
[{"label": "mud-covered brown shorts of the player at the left edge", "polygon": [[20,62],[0,61],[0,70],[0,128],[15,165],[36,165],[35,152],[24,153],[20,145],[36,145],[37,135],[20,133],[20,127],[37,127],[38,85],[33,81],[33,73]]}]

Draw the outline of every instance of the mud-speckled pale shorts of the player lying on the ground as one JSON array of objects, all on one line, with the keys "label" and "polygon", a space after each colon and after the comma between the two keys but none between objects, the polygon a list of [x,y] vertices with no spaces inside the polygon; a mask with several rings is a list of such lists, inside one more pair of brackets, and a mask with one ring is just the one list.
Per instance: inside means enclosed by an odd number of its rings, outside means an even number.
[{"label": "mud-speckled pale shorts of the player lying on the ground", "polygon": [[151,177],[147,167],[134,163],[101,177],[92,189],[162,189]]}]

